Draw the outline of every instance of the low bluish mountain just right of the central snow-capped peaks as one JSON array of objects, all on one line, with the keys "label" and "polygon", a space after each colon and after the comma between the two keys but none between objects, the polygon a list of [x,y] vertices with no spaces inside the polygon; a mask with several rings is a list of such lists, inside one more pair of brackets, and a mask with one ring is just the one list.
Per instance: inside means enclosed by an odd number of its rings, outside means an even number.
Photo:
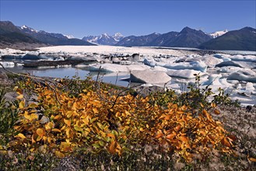
[{"label": "low bluish mountain just right of the central snow-capped peaks", "polygon": [[120,40],[117,44],[117,46],[124,46],[124,47],[143,47],[147,44],[150,44],[153,40],[155,40],[157,37],[159,37],[159,33],[152,33],[146,36],[129,36],[124,37],[122,40]]}]

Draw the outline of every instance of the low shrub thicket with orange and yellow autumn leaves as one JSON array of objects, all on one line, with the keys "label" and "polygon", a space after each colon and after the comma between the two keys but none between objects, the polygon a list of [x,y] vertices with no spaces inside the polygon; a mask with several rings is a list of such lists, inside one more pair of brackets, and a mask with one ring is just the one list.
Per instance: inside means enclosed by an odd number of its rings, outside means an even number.
[{"label": "low shrub thicket with orange and yellow autumn leaves", "polygon": [[[195,115],[195,106],[179,102],[171,91],[170,96],[142,97],[93,81],[80,86],[66,82],[28,80],[23,89],[16,88],[19,121],[8,149],[52,152],[63,158],[78,149],[86,154],[107,151],[121,156],[135,145],[155,145],[187,162],[195,155],[207,155],[212,148],[232,152],[235,138],[212,119],[202,100],[202,110]],[[37,99],[26,98],[28,89]],[[213,114],[219,114],[216,111]]]}]

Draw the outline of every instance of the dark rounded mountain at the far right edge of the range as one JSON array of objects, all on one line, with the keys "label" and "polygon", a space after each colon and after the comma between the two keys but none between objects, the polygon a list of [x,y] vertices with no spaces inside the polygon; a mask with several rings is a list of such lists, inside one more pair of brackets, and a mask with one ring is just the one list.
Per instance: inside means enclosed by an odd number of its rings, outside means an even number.
[{"label": "dark rounded mountain at the far right edge of the range", "polygon": [[199,46],[200,49],[256,51],[256,30],[244,27],[240,30],[229,31],[221,37],[209,40]]}]

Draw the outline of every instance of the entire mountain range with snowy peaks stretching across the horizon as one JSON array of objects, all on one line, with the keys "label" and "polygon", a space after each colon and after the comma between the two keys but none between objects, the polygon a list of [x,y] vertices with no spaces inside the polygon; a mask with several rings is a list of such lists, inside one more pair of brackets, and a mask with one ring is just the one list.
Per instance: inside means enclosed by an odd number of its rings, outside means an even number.
[{"label": "entire mountain range with snowy peaks stretching across the horizon", "polygon": [[9,21],[0,21],[0,48],[33,48],[51,45],[111,45],[124,47],[195,47],[205,50],[256,51],[256,30],[244,27],[240,30],[204,33],[184,27],[181,32],[151,33],[145,36],[124,37],[103,33],[81,39],[61,33],[34,30],[29,26],[15,26]]}]

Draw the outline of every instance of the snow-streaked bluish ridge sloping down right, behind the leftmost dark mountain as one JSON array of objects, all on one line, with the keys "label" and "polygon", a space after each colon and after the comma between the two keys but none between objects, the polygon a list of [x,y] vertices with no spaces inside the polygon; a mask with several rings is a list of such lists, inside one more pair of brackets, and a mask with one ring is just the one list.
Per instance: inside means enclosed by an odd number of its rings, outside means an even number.
[{"label": "snow-streaked bluish ridge sloping down right, behind the leftmost dark mountain", "polygon": [[68,39],[68,37],[65,37],[61,33],[48,33],[46,31],[37,31],[34,30],[28,26],[21,26],[17,27],[19,30],[21,30],[23,33],[26,33],[30,35],[30,37],[33,37],[37,40],[40,40],[41,42],[44,42],[45,44],[51,44],[51,45],[94,45],[90,44],[89,42],[85,40],[80,39]]}]

